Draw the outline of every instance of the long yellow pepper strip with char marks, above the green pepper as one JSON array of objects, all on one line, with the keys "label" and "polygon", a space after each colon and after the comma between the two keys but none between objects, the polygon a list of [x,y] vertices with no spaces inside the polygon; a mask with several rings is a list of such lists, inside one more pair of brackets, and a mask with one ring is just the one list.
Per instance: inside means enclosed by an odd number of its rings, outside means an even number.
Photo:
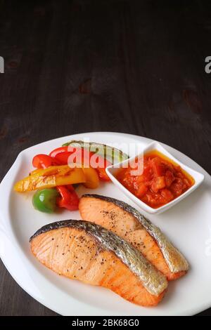
[{"label": "long yellow pepper strip with char marks, above the green pepper", "polygon": [[72,185],[85,183],[86,176],[83,169],[70,168],[68,165],[50,166],[47,169],[32,171],[30,176],[18,181],[14,185],[16,192],[30,192],[44,188],[56,187],[57,185]]}]

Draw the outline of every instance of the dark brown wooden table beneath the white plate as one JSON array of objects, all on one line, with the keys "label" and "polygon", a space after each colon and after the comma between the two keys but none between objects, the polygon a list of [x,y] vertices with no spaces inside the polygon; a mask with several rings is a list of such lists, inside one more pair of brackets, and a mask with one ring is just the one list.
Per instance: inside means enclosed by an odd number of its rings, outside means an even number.
[{"label": "dark brown wooden table beneath the white plate", "polygon": [[[0,4],[0,180],[26,147],[87,131],[159,140],[211,173],[211,3]],[[0,315],[56,315],[0,274]]]}]

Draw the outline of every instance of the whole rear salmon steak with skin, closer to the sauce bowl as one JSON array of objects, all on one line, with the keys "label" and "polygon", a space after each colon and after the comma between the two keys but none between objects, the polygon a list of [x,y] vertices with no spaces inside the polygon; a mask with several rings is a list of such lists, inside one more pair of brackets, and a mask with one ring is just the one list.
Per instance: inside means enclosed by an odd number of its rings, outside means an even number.
[{"label": "whole rear salmon steak with skin, closer to the sauce bowl", "polygon": [[136,209],[110,197],[85,194],[79,201],[82,219],[112,230],[126,239],[168,280],[186,274],[188,263],[161,230]]}]

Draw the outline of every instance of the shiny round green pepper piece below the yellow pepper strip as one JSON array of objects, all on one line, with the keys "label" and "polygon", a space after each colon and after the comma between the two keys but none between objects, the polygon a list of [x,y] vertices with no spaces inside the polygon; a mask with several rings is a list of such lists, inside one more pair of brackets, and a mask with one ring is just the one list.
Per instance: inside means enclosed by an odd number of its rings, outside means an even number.
[{"label": "shiny round green pepper piece below the yellow pepper strip", "polygon": [[38,190],[32,199],[34,209],[41,212],[53,213],[56,210],[56,198],[58,196],[59,193],[56,189]]}]

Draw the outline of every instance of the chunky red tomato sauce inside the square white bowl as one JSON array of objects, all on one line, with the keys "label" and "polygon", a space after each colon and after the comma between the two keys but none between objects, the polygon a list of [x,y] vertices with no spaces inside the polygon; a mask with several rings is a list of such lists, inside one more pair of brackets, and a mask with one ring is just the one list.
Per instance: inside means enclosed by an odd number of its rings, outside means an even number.
[{"label": "chunky red tomato sauce inside the square white bowl", "polygon": [[153,209],[163,206],[186,192],[194,179],[158,151],[143,156],[143,173],[132,176],[134,168],[121,169],[117,180]]}]

